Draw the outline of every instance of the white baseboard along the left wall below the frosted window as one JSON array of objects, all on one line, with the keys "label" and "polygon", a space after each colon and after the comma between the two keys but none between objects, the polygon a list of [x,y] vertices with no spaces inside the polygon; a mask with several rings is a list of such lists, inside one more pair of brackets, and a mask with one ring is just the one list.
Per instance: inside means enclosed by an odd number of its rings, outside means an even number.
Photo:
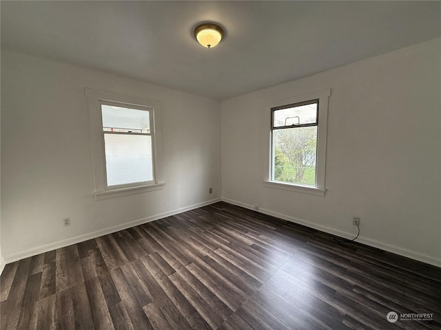
[{"label": "white baseboard along the left wall below the frosted window", "polygon": [[[112,232],[118,232],[119,230],[124,230],[127,228],[132,228],[135,225],[141,225],[143,223],[147,223],[150,221],[155,221],[158,219],[163,219],[165,217],[171,217],[174,214],[178,214],[178,213],[182,213],[182,212],[186,212],[189,210],[194,210],[195,208],[201,208],[203,206],[207,206],[210,205],[212,203],[216,203],[218,201],[220,201],[220,198],[216,198],[216,199],[211,199],[209,201],[203,201],[202,203],[197,203],[191,206],[185,206],[185,208],[178,208],[176,210],[171,210],[168,212],[164,212],[161,214],[155,214],[152,215],[150,217],[145,217],[142,219],[137,219],[134,221],[130,221],[130,222],[126,222],[126,223],[121,223],[120,225],[114,225],[112,227],[109,228],[104,228],[102,230],[97,230],[95,232],[89,232],[87,234],[82,234],[82,235],[78,235],[78,236],[74,236],[74,237],[70,237],[68,239],[63,239],[61,241],[56,241],[53,243],[49,243],[49,244],[45,244],[45,245],[40,245],[36,248],[32,248],[32,249],[28,249],[28,250],[23,250],[20,252],[16,252],[13,254],[7,254],[5,255],[5,259],[2,263],[2,265],[5,263],[12,263],[14,261],[18,261],[21,259],[25,259],[28,258],[29,256],[35,256],[37,254],[41,254],[43,252],[48,252],[48,251],[52,251],[55,249],[59,249],[59,248],[64,248],[65,246],[68,245],[72,245],[72,244],[76,244],[76,243],[81,243],[83,241],[87,241],[88,239],[95,239],[96,237],[99,236],[103,236],[103,235],[107,235],[107,234],[112,234]],[[4,265],[3,265],[4,267]],[[3,268],[2,268],[3,270]]]}]

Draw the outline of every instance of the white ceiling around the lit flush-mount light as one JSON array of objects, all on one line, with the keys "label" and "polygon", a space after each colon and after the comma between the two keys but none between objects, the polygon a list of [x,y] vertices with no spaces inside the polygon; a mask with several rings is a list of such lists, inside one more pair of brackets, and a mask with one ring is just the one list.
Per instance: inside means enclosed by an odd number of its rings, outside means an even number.
[{"label": "white ceiling around the lit flush-mount light", "polygon": [[440,1],[1,1],[2,49],[217,100],[440,35]]}]

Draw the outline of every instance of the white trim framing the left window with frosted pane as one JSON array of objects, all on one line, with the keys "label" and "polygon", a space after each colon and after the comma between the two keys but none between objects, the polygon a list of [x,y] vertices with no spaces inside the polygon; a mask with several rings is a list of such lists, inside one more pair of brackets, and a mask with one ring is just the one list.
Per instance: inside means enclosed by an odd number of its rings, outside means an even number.
[{"label": "white trim framing the left window with frosted pane", "polygon": [[[112,197],[120,197],[132,195],[141,192],[162,189],[165,182],[163,181],[163,148],[162,148],[162,103],[155,100],[146,100],[143,98],[135,98],[133,96],[125,96],[106,91],[96,91],[94,89],[85,89],[85,96],[88,98],[89,118],[90,118],[90,142],[92,150],[92,165],[94,170],[94,198],[107,199]],[[105,151],[103,141],[103,124],[101,119],[101,103],[112,102],[121,104],[122,107],[150,107],[153,108],[154,125],[154,178],[152,184],[141,183],[139,185],[121,186],[112,188],[107,187],[105,174]]]}]

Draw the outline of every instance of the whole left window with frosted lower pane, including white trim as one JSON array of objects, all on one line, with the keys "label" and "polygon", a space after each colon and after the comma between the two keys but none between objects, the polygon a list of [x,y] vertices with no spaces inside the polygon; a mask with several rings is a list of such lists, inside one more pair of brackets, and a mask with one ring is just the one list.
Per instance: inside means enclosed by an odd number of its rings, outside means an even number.
[{"label": "whole left window with frosted lower pane, including white trim", "polygon": [[86,89],[97,199],[157,190],[161,102]]}]

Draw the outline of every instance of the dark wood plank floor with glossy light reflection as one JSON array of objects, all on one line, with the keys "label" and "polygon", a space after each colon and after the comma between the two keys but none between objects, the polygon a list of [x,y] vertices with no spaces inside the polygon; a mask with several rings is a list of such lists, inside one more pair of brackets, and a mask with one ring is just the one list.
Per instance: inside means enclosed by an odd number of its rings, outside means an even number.
[{"label": "dark wood plank floor with glossy light reflection", "polygon": [[440,268],[220,202],[6,265],[1,329],[441,329],[440,296]]}]

